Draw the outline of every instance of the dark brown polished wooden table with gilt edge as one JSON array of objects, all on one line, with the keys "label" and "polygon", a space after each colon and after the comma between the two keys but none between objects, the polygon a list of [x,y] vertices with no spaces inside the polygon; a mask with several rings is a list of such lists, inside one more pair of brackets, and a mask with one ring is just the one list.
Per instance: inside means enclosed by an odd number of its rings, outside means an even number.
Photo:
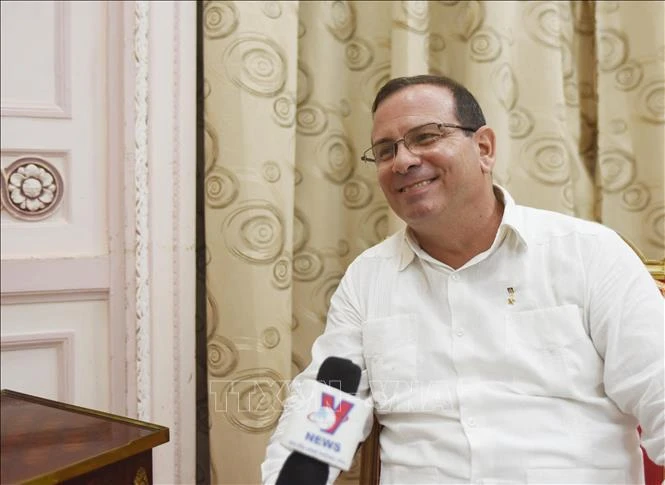
[{"label": "dark brown polished wooden table with gilt edge", "polygon": [[2,390],[0,483],[147,485],[164,426]]}]

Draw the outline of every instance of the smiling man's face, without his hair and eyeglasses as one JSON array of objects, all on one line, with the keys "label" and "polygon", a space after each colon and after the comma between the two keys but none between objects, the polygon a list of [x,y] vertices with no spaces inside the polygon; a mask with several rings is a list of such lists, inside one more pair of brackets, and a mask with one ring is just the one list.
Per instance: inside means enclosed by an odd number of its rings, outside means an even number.
[{"label": "smiling man's face, without his hair and eyeglasses", "polygon": [[[372,143],[401,139],[409,130],[427,123],[459,124],[454,113],[453,95],[443,86],[402,88],[376,110]],[[379,185],[390,207],[416,230],[437,221],[468,217],[474,203],[491,190],[491,130],[484,127],[473,136],[457,128],[444,130],[445,136],[425,153],[414,155],[400,143],[393,160],[377,164]]]}]

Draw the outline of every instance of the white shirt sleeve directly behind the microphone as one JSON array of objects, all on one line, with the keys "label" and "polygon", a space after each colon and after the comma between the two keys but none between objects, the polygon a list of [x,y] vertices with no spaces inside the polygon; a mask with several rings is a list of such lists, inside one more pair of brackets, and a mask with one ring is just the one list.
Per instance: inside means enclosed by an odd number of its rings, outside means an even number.
[{"label": "white shirt sleeve directly behind the microphone", "polygon": [[[365,399],[368,406],[373,406],[369,392],[367,368],[362,352],[362,317],[358,304],[358,294],[354,291],[352,279],[353,265],[349,266],[347,273],[331,298],[326,328],[312,346],[311,363],[294,378],[291,386],[289,386],[289,397],[284,403],[282,415],[268,442],[266,457],[261,465],[262,483],[264,485],[275,483],[284,462],[291,453],[281,444],[280,440],[291,409],[304,399],[297,392],[297,389],[301,387],[298,384],[308,379],[316,379],[318,369],[326,358],[331,356],[346,358],[360,367],[360,384],[356,396]],[[372,422],[370,415],[363,428],[363,440],[369,435]],[[330,467],[328,484],[332,484],[339,473],[340,469]]]}]

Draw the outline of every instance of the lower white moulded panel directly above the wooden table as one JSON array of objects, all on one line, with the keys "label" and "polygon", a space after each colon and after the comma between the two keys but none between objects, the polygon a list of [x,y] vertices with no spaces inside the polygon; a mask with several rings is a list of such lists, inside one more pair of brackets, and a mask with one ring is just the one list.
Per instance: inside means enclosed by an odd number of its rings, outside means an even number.
[{"label": "lower white moulded panel directly above the wooden table", "polygon": [[[109,410],[107,301],[3,304],[0,319],[3,387],[34,378],[22,386],[35,391],[43,383],[39,395],[57,392],[67,402]],[[55,388],[47,382],[54,366]]]}]

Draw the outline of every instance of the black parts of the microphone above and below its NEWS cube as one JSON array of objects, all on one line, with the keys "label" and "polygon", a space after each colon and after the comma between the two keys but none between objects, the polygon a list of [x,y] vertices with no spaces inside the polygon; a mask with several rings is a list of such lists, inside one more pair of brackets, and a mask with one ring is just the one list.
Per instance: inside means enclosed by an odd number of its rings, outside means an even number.
[{"label": "black parts of the microphone above and below its NEWS cube", "polygon": [[[360,384],[360,367],[348,359],[328,357],[321,364],[316,380],[321,384],[355,396]],[[339,424],[341,422],[335,423],[333,426],[336,428]],[[334,433],[334,431],[333,429],[332,432]],[[330,467],[327,463],[294,451],[284,462],[275,485],[325,485],[329,473]]]}]

